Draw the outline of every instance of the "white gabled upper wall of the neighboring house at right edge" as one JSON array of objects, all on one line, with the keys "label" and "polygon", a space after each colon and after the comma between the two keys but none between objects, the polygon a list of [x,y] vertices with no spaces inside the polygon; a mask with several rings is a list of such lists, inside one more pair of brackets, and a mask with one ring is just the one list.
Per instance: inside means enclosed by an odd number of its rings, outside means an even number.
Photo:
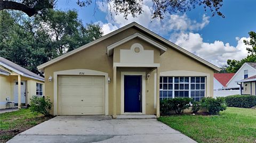
[{"label": "white gabled upper wall of the neighboring house at right edge", "polygon": [[256,75],[256,63],[244,63],[236,74],[228,81],[227,88],[239,89],[240,86],[236,81],[252,77],[253,75]]}]

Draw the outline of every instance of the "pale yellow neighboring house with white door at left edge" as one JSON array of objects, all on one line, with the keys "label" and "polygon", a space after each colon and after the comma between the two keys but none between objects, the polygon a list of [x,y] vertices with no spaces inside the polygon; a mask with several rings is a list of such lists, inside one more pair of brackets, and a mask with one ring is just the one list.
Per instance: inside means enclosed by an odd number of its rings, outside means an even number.
[{"label": "pale yellow neighboring house with white door at left edge", "polygon": [[10,107],[7,102],[26,106],[34,95],[44,95],[44,78],[0,57],[0,109]]}]

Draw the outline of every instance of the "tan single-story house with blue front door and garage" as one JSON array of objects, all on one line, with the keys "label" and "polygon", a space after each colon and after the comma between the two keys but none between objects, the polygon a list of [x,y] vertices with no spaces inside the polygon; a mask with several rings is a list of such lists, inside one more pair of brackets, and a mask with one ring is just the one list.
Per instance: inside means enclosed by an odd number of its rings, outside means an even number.
[{"label": "tan single-story house with blue front door and garage", "polygon": [[220,69],[130,23],[37,67],[54,115],[155,114],[159,100],[213,97]]}]

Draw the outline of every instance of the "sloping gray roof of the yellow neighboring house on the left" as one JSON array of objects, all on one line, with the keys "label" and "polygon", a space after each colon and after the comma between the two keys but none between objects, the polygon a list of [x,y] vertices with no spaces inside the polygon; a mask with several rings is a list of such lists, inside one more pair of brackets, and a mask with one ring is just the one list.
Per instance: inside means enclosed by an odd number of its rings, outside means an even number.
[{"label": "sloping gray roof of the yellow neighboring house on the left", "polygon": [[25,69],[25,68],[22,68],[20,65],[15,64],[15,63],[13,63],[13,62],[11,62],[11,61],[3,58],[3,57],[0,57],[0,65],[4,66],[7,69],[8,69],[8,67],[6,67],[5,65],[10,66],[10,68],[13,68],[13,69],[23,73],[23,76],[25,76],[25,77],[30,77],[30,78],[34,78],[34,79],[37,79],[37,80],[39,79],[39,80],[44,81],[43,77]]}]

